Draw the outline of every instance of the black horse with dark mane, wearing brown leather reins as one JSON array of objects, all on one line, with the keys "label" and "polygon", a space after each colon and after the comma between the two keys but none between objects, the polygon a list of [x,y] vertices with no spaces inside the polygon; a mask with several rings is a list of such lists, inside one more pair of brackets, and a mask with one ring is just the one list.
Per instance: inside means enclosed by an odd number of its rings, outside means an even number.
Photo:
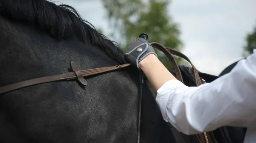
[{"label": "black horse with dark mane, wearing brown leather reins", "polygon": [[[71,71],[70,61],[80,70],[126,63],[123,51],[70,6],[46,0],[0,1],[0,87]],[[191,68],[180,68],[185,84],[195,86]],[[75,80],[58,81],[0,95],[0,142],[135,143],[137,68],[86,80],[86,87]],[[197,143],[195,135],[184,135],[163,120],[154,96],[146,82],[140,142]],[[215,133],[216,140],[230,143],[224,133]]]}]

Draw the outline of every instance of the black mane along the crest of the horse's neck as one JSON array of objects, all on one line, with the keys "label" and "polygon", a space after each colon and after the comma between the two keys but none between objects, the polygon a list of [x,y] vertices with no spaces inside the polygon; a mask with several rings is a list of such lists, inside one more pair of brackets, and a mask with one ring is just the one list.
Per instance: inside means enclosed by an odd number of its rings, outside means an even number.
[{"label": "black mane along the crest of the horse's neck", "polygon": [[0,14],[9,19],[43,29],[55,39],[77,36],[98,46],[112,59],[125,63],[124,53],[115,42],[98,33],[75,8],[46,0],[0,0]]}]

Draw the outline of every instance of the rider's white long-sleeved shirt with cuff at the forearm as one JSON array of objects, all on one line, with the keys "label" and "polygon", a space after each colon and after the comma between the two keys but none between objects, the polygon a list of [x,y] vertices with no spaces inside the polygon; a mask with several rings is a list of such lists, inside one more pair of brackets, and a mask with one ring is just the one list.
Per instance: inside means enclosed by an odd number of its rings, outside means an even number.
[{"label": "rider's white long-sleeved shirt with cuff at the forearm", "polygon": [[256,49],[211,83],[187,87],[167,81],[157,90],[156,101],[164,120],[186,135],[247,127],[244,143],[256,143]]}]

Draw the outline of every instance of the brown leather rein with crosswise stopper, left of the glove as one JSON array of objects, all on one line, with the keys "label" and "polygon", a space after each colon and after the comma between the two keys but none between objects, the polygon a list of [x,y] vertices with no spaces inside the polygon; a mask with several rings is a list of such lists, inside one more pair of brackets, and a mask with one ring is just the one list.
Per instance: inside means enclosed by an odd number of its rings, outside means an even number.
[{"label": "brown leather rein with crosswise stopper, left of the glove", "polygon": [[[63,73],[63,74],[59,74],[59,75],[53,75],[53,76],[45,76],[45,77],[41,77],[41,78],[36,78],[36,79],[29,79],[26,81],[20,81],[14,84],[9,84],[3,87],[0,87],[0,94],[3,93],[7,93],[13,90],[17,90],[23,87],[28,87],[31,85],[35,85],[35,84],[42,84],[42,83],[47,83],[47,82],[52,82],[52,81],[61,81],[61,80],[71,80],[71,79],[78,79],[78,81],[81,84],[86,85],[86,81],[81,78],[82,77],[86,77],[86,76],[92,76],[92,75],[96,75],[99,73],[105,73],[111,70],[116,70],[116,69],[121,69],[123,67],[128,67],[131,64],[122,64],[122,65],[116,65],[116,66],[112,66],[112,67],[101,67],[101,68],[95,68],[95,69],[89,69],[89,70],[78,70],[75,66],[75,64],[71,61],[70,62],[71,67],[73,70],[73,72],[70,73]],[[81,81],[81,80],[84,81]]]}]

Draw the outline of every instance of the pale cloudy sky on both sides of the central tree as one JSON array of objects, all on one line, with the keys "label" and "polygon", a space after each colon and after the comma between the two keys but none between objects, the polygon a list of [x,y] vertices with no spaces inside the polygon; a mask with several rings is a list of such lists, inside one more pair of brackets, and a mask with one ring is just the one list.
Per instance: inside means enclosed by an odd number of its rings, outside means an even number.
[{"label": "pale cloudy sky on both sides of the central tree", "polygon": [[[101,0],[53,2],[73,6],[84,20],[110,33]],[[246,35],[256,26],[255,6],[256,0],[172,0],[168,13],[180,25],[181,52],[199,71],[218,76],[243,58]]]}]

